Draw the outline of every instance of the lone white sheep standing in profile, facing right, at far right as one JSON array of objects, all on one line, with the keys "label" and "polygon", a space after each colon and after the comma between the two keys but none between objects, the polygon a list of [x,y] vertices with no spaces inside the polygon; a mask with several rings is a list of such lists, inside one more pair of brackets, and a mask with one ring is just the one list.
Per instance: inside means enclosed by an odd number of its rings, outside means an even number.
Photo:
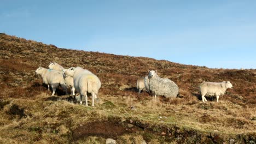
[{"label": "lone white sheep standing in profile, facing right, at far right", "polygon": [[223,95],[228,88],[232,88],[230,81],[223,82],[202,82],[199,85],[199,90],[202,95],[203,103],[207,102],[205,95],[216,95],[217,103],[219,103],[219,96]]}]

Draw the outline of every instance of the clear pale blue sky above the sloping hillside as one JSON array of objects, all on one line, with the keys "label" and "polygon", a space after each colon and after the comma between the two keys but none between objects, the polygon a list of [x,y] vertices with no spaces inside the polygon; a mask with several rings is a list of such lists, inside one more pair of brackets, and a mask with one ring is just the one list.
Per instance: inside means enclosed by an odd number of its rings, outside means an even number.
[{"label": "clear pale blue sky above the sloping hillside", "polygon": [[0,32],[57,47],[256,68],[256,1],[0,0]]}]

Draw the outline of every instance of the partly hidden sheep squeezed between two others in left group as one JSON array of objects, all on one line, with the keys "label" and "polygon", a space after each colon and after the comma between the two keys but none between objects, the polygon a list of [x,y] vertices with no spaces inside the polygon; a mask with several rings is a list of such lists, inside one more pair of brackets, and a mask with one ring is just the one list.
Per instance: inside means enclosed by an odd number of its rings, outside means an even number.
[{"label": "partly hidden sheep squeezed between two others in left group", "polygon": [[51,62],[48,66],[49,69],[54,69],[57,71],[61,71],[63,74],[63,78],[65,80],[66,86],[67,88],[70,88],[71,90],[71,94],[75,95],[75,88],[74,88],[74,80],[72,76],[66,76],[64,73],[67,69],[63,68],[60,64],[55,63],[55,62]]}]

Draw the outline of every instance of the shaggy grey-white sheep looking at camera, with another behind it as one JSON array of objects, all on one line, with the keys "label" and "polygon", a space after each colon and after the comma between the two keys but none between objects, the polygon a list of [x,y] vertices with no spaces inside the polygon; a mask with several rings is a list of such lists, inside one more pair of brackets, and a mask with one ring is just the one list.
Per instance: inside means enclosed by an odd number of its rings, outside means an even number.
[{"label": "shaggy grey-white sheep looking at camera, with another behind it", "polygon": [[179,87],[169,79],[162,79],[156,73],[157,71],[148,70],[149,89],[155,95],[163,95],[165,98],[176,98],[179,93]]}]

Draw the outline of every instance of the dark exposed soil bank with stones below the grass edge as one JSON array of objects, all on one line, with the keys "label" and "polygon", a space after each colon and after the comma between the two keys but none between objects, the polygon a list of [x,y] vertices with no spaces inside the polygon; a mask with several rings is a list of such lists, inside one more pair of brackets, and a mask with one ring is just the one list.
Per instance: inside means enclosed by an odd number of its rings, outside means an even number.
[{"label": "dark exposed soil bank with stones below the grass edge", "polygon": [[[127,127],[132,123],[132,127]],[[120,123],[117,120],[104,122],[91,122],[72,131],[73,141],[84,139],[88,136],[100,136],[112,139],[118,139],[118,136],[128,133],[140,133],[143,135],[143,139],[147,142],[154,135],[161,137],[163,141],[172,142],[176,140],[178,143],[223,143],[225,142],[224,135],[218,135],[217,133],[200,132],[193,129],[181,129],[174,125],[173,127],[166,127],[163,125],[150,125],[139,121],[125,121]],[[249,143],[255,141],[255,133],[240,134],[234,137],[230,137],[230,140],[234,140],[238,143]]]}]

